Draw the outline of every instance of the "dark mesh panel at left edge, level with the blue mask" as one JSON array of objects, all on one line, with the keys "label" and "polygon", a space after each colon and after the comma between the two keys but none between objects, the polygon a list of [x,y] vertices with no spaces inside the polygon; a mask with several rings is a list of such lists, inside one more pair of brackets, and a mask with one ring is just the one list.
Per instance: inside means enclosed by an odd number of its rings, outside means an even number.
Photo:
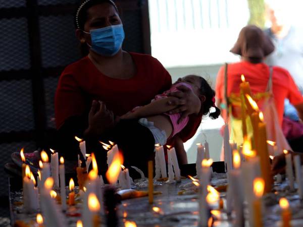
[{"label": "dark mesh panel at left edge, level with the blue mask", "polygon": [[[10,1],[7,1],[10,2]],[[0,20],[0,71],[30,68],[26,18]]]}]

